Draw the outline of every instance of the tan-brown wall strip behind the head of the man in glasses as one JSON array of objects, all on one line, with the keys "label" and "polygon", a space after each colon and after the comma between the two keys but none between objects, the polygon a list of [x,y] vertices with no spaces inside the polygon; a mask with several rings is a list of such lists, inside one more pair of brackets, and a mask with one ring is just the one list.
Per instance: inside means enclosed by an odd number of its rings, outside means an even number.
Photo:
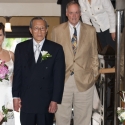
[{"label": "tan-brown wall strip behind the head of the man in glasses", "polygon": [[[12,17],[10,19],[10,23],[12,26],[29,26],[29,22],[32,18],[33,17],[30,17],[30,16]],[[45,16],[43,18],[47,21],[47,23],[49,25],[47,39],[50,39],[51,31],[52,31],[53,27],[60,24],[60,17],[59,16]],[[5,18],[0,17],[0,22],[5,23],[6,22]]]}]

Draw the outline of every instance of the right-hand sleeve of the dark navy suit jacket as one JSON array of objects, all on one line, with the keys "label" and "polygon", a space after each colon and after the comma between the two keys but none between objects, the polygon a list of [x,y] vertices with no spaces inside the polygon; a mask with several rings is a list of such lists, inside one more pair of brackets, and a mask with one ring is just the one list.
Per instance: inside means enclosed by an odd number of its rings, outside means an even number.
[{"label": "right-hand sleeve of the dark navy suit jacket", "polygon": [[54,89],[52,101],[58,104],[62,101],[64,81],[65,81],[65,58],[62,46],[59,47],[53,70]]}]

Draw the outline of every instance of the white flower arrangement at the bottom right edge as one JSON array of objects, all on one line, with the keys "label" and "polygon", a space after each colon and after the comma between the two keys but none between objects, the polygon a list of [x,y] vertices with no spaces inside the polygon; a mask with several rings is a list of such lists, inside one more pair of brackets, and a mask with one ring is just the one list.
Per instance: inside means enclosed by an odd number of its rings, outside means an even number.
[{"label": "white flower arrangement at the bottom right edge", "polygon": [[121,123],[125,122],[125,91],[119,91],[121,107],[117,108],[118,119]]}]

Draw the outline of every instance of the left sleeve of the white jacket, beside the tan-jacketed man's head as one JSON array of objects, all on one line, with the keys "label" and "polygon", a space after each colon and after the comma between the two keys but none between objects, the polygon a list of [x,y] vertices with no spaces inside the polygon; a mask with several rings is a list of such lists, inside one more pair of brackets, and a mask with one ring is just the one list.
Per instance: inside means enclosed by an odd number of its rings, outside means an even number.
[{"label": "left sleeve of the white jacket, beside the tan-jacketed man's head", "polygon": [[81,7],[81,18],[82,18],[82,22],[83,23],[86,23],[88,25],[92,25],[92,23],[90,22],[90,17],[88,14],[85,13],[85,8],[84,8],[84,5],[83,5],[83,1],[82,0],[79,0],[79,5]]}]

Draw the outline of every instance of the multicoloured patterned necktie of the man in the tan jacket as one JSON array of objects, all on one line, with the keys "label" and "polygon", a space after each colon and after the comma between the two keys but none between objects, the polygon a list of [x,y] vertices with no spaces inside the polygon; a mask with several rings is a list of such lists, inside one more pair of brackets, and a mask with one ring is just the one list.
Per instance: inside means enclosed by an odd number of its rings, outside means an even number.
[{"label": "multicoloured patterned necktie of the man in the tan jacket", "polygon": [[76,50],[77,50],[77,31],[76,31],[76,28],[74,28],[74,34],[73,34],[73,37],[72,37],[72,49],[73,49],[73,53],[74,55],[76,54]]}]

